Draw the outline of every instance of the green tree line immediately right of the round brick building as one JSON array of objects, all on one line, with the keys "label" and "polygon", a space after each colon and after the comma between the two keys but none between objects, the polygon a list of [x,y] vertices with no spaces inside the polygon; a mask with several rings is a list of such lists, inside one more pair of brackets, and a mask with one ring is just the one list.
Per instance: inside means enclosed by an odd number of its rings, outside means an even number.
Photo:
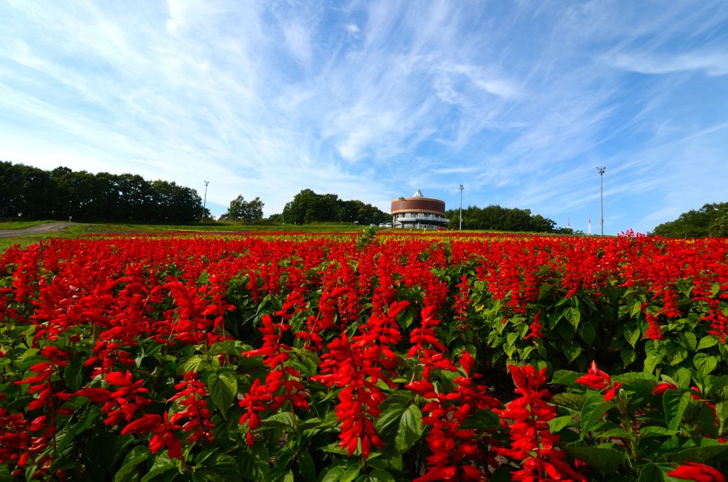
[{"label": "green tree line immediately right of the round brick building", "polygon": [[[450,229],[460,226],[460,210],[448,209],[445,216],[450,220]],[[490,205],[486,208],[468,206],[462,210],[463,229],[491,229],[515,232],[571,232],[568,228],[556,228],[556,221],[540,214],[531,214],[530,209],[502,208]]]}]

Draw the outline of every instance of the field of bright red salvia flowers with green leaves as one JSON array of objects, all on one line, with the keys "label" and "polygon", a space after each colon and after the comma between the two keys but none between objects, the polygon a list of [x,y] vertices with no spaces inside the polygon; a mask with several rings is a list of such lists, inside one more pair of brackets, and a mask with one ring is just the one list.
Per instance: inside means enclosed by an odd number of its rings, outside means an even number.
[{"label": "field of bright red salvia flowers with green leaves", "polygon": [[728,240],[0,254],[0,481],[725,481]]}]

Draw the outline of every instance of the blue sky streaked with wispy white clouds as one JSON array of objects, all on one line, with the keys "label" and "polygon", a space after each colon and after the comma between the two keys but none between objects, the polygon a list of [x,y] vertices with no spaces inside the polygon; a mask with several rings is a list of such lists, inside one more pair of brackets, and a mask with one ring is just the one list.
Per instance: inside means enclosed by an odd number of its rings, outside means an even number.
[{"label": "blue sky streaked with wispy white clouds", "polygon": [[728,2],[0,3],[0,159],[647,232],[728,201]]}]

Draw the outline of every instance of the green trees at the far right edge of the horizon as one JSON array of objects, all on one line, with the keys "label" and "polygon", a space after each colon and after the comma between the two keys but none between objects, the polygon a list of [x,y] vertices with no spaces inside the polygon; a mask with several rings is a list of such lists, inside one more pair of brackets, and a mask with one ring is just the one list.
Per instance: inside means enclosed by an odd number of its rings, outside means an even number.
[{"label": "green trees at the far right edge of the horizon", "polygon": [[662,223],[650,234],[662,237],[728,237],[728,202],[703,205]]}]

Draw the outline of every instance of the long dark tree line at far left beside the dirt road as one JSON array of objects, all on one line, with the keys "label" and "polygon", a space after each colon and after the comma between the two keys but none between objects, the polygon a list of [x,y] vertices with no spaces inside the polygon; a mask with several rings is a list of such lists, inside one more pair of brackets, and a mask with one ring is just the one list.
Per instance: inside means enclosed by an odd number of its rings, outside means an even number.
[{"label": "long dark tree line at far left beside the dirt road", "polygon": [[189,223],[202,215],[194,189],[141,175],[47,171],[2,161],[0,186],[0,218]]}]

